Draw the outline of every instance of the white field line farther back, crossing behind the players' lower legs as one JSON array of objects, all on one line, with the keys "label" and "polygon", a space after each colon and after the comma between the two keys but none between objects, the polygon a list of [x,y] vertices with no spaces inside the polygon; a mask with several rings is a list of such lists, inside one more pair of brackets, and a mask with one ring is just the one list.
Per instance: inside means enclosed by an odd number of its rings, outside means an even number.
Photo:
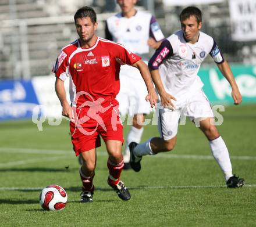
[{"label": "white field line farther back, crossing behind the players' lower legs", "polygon": [[[66,156],[74,156],[72,150],[45,150],[45,149],[31,149],[31,148],[15,148],[15,147],[0,147],[0,153],[29,153],[29,154],[65,154]],[[97,151],[98,156],[106,156],[104,151]],[[197,155],[197,154],[173,154],[173,153],[159,153],[152,157],[158,158],[182,158],[182,159],[200,159],[211,160],[211,155]],[[232,160],[256,160],[256,156],[230,156]]]}]

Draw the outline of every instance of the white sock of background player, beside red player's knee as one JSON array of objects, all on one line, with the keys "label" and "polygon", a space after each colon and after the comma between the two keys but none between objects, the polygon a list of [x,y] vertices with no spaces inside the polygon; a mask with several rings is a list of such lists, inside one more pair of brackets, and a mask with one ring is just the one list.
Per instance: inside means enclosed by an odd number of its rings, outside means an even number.
[{"label": "white sock of background player, beside red player's knee", "polygon": [[131,125],[130,131],[126,138],[126,145],[125,145],[125,154],[123,156],[124,163],[129,163],[130,161],[130,150],[129,150],[129,144],[131,142],[140,143],[141,136],[143,134],[144,129],[138,129],[135,128],[133,125]]}]

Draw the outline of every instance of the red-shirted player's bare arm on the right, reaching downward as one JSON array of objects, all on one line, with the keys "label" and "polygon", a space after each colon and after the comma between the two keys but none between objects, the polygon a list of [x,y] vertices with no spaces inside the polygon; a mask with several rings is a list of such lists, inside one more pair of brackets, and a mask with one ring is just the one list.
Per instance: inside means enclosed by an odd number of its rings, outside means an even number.
[{"label": "red-shirted player's bare arm on the right, reaching downward", "polygon": [[148,66],[143,62],[143,60],[138,60],[138,62],[133,64],[138,70],[140,70],[140,74],[145,81],[145,84],[148,89],[148,95],[146,96],[147,102],[150,102],[151,107],[157,107],[158,96],[157,92],[155,92],[154,84],[152,82],[150,71],[148,71]]}]

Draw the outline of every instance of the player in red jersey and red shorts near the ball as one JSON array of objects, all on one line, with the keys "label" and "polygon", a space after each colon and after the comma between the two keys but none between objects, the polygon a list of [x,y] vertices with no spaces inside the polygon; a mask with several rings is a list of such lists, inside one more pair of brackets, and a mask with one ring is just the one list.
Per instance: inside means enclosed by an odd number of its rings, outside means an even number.
[{"label": "player in red jersey and red shorts near the ball", "polygon": [[[120,199],[129,200],[130,193],[120,181],[123,169],[123,125],[119,117],[120,64],[140,70],[148,89],[146,100],[151,107],[157,103],[157,93],[150,72],[141,58],[125,46],[97,37],[97,17],[84,6],[74,15],[79,39],[62,48],[54,66],[55,90],[62,105],[62,115],[70,118],[70,132],[76,156],[83,158],[80,177],[83,183],[81,202],[93,201],[96,147],[104,139],[108,152],[108,184]],[[67,102],[64,81],[70,80],[71,106]]]}]

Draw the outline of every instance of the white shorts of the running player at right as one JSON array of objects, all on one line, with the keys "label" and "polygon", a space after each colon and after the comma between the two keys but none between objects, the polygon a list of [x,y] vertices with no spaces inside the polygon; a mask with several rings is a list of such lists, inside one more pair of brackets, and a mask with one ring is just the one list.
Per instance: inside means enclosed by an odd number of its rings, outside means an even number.
[{"label": "white shorts of the running player at right", "polygon": [[186,124],[186,117],[195,122],[197,127],[199,127],[199,119],[214,117],[209,100],[202,90],[187,99],[179,109],[169,110],[161,106],[158,106],[158,109],[158,131],[164,140],[172,139],[177,135],[178,126]]}]

